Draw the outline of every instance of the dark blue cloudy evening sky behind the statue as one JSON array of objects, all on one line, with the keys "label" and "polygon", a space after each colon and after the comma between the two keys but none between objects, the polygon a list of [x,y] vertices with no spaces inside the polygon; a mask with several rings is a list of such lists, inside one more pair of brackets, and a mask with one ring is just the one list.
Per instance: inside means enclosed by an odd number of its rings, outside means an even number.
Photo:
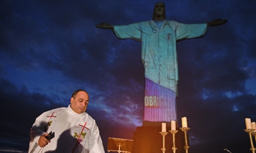
[{"label": "dark blue cloudy evening sky behind the statue", "polygon": [[[133,139],[142,125],[140,43],[119,40],[105,22],[152,17],[155,0],[1,0],[0,150],[26,151],[35,118],[67,107],[83,88],[108,137]],[[188,119],[191,153],[250,153],[245,118],[256,121],[256,0],[166,0],[166,19],[228,22],[177,43],[177,114]],[[160,129],[161,130],[161,129]],[[180,148],[182,149],[182,148]]]}]

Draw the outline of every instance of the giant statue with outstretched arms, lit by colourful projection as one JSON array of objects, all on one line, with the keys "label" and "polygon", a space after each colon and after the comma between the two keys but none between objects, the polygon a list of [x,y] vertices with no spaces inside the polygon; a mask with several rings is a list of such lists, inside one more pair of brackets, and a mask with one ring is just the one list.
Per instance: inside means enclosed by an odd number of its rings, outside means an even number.
[{"label": "giant statue with outstretched arms, lit by colourful projection", "polygon": [[161,122],[177,121],[176,41],[202,37],[209,26],[227,22],[218,19],[203,24],[183,24],[166,20],[165,12],[165,4],[157,2],[153,20],[126,26],[107,23],[96,25],[97,28],[112,29],[119,39],[133,39],[142,43],[141,61],[145,69],[143,126],[159,126]]}]

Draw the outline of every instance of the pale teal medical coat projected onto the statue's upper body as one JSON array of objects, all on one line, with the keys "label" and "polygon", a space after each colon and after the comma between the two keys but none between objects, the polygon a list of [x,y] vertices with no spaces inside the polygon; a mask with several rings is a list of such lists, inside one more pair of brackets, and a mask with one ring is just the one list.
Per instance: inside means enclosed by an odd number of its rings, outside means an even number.
[{"label": "pale teal medical coat projected onto the statue's upper body", "polygon": [[176,41],[203,36],[207,31],[207,24],[183,24],[164,20],[158,28],[150,20],[127,26],[114,26],[113,31],[120,39],[130,38],[141,42],[145,78],[177,94]]}]

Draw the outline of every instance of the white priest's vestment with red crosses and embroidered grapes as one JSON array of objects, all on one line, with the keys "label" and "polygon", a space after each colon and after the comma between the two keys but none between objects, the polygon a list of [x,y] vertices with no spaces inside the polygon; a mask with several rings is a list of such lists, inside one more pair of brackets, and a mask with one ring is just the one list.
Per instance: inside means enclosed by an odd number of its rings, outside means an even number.
[{"label": "white priest's vestment with red crosses and embroidered grapes", "polygon": [[[55,137],[45,147],[38,146],[39,137],[50,131]],[[87,113],[74,112],[70,106],[41,114],[31,128],[30,138],[28,153],[71,153],[73,148],[74,153],[105,153],[95,120]]]}]

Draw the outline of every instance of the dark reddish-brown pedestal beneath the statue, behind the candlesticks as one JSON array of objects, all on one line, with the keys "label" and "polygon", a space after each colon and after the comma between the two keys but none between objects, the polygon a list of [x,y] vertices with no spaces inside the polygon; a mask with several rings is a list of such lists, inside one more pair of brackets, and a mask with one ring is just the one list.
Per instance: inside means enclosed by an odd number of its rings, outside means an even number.
[{"label": "dark reddish-brown pedestal beneath the statue, behind the candlesticks", "polygon": [[[168,132],[171,129],[166,127]],[[161,148],[163,147],[163,136],[161,136],[161,127],[137,127],[134,132],[134,142],[132,153],[161,153]],[[183,132],[176,128],[178,132],[175,135],[175,146],[177,147],[176,153],[184,153],[184,134]],[[165,137],[165,153],[173,153],[172,151],[172,134],[169,133]]]}]

